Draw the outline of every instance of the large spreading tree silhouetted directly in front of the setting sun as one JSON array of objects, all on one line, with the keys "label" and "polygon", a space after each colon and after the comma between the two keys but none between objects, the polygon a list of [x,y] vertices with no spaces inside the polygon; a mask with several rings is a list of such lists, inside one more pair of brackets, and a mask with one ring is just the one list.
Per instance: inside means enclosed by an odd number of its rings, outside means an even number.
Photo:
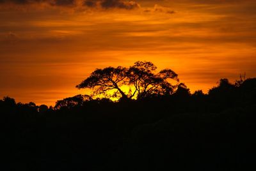
[{"label": "large spreading tree silhouetted directly in front of the setting sun", "polygon": [[[78,89],[93,89],[93,95],[110,96],[122,99],[145,98],[154,94],[164,95],[173,93],[173,86],[169,81],[179,82],[178,75],[170,69],[155,73],[157,67],[147,61],[138,61],[129,68],[118,66],[96,69],[77,85]],[[129,87],[128,93],[124,85]],[[109,93],[110,91],[114,93]]]}]

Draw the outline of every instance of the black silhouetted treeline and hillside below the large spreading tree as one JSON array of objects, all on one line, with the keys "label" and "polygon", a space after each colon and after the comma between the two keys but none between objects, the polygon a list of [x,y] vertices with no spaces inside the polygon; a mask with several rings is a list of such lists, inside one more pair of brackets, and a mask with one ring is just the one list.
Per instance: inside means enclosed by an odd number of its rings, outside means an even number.
[{"label": "black silhouetted treeline and hillside below the large spreading tree", "polygon": [[[77,95],[54,108],[0,100],[8,170],[248,170],[256,78],[140,100]],[[6,169],[4,169],[6,170]]]}]

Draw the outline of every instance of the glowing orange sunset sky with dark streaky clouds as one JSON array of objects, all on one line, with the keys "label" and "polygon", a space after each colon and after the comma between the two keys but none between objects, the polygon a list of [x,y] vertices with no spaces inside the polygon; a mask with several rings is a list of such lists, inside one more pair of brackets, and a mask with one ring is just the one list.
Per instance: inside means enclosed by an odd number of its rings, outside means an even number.
[{"label": "glowing orange sunset sky with dark streaky clouds", "polygon": [[95,68],[151,61],[191,93],[256,77],[255,0],[0,0],[0,97],[54,105]]}]

